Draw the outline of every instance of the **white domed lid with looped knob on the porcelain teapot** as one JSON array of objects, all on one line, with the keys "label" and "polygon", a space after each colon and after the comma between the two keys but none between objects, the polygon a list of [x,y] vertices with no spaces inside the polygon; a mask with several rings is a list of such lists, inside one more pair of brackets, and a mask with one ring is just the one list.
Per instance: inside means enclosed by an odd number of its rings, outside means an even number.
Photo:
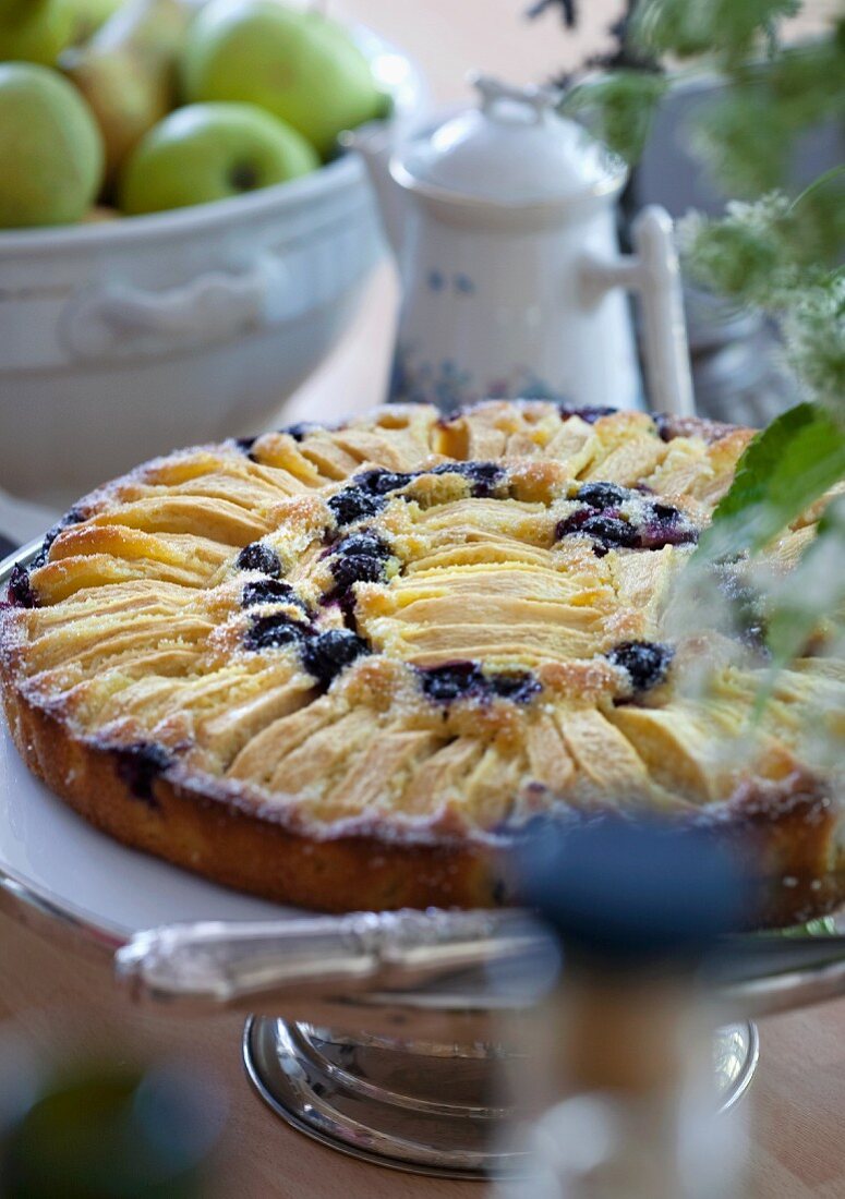
[{"label": "white domed lid with looped knob on the porcelain teapot", "polygon": [[584,193],[612,194],[624,162],[556,112],[549,88],[511,88],[475,76],[477,108],[412,138],[391,170],[411,189],[491,205],[549,205]]}]

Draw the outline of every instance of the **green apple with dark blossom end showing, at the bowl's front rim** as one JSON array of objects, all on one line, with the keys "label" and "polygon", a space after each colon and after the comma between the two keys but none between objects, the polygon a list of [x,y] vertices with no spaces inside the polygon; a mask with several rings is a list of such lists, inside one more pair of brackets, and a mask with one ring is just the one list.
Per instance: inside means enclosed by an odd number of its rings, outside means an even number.
[{"label": "green apple with dark blossom end showing, at the bowl's front rim", "polygon": [[296,129],[254,104],[188,104],[133,150],[120,181],[120,207],[137,216],[223,200],[319,164]]}]

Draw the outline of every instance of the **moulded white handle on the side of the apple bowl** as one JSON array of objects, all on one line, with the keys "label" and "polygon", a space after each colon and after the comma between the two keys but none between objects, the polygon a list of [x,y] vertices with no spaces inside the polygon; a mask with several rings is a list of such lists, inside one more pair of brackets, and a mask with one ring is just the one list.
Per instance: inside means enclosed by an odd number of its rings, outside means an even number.
[{"label": "moulded white handle on the side of the apple bowl", "polygon": [[161,291],[110,283],[73,302],[65,313],[64,339],[84,361],[224,339],[265,323],[285,277],[278,259],[265,255],[240,273],[210,271]]}]

